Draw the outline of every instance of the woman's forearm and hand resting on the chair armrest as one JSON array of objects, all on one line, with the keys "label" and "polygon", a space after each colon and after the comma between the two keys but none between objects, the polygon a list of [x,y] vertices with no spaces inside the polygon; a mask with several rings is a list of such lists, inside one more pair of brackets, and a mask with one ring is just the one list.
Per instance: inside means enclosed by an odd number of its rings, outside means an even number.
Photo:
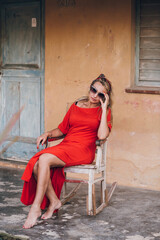
[{"label": "woman's forearm and hand resting on the chair armrest", "polygon": [[39,148],[39,145],[40,143],[43,145],[47,138],[51,138],[51,137],[60,137],[62,136],[63,133],[61,132],[61,130],[59,128],[55,128],[51,131],[48,131],[48,132],[45,132],[43,133],[42,135],[40,135],[38,138],[37,138],[37,149]]}]

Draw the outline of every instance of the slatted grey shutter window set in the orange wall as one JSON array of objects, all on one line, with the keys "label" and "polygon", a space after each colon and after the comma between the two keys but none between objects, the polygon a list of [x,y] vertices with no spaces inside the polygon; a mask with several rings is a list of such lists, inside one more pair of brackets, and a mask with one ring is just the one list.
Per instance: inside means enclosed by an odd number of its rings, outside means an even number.
[{"label": "slatted grey shutter window set in the orange wall", "polygon": [[136,0],[135,85],[160,87],[160,0]]}]

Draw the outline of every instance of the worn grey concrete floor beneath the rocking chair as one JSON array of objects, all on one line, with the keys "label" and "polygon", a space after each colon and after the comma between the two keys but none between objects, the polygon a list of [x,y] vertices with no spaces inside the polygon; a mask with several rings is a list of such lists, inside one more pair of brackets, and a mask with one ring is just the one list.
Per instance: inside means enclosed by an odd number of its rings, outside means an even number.
[{"label": "worn grey concrete floor beneath the rocking chair", "polygon": [[[120,186],[109,206],[97,216],[86,215],[86,186],[83,186],[61,208],[59,216],[39,220],[34,228],[25,230],[22,226],[29,207],[20,202],[22,172],[0,167],[0,240],[160,239],[160,192]],[[6,233],[10,235],[7,237]]]}]

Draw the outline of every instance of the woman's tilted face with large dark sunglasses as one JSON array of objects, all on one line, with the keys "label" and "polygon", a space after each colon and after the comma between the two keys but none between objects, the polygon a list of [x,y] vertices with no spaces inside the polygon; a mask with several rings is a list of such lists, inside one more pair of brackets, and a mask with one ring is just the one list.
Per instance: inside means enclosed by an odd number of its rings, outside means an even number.
[{"label": "woman's tilted face with large dark sunglasses", "polygon": [[89,92],[89,101],[93,104],[99,104],[100,99],[103,100],[106,93],[105,87],[100,82],[95,82]]}]

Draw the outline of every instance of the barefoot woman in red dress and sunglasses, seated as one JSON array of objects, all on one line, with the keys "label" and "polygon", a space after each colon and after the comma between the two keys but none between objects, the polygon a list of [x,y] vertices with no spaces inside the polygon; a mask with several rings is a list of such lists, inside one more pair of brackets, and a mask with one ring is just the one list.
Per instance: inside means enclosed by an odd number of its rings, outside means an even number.
[{"label": "barefoot woman in red dress and sunglasses, seated", "polygon": [[95,156],[96,139],[105,139],[111,130],[111,84],[101,74],[90,85],[89,96],[73,103],[58,128],[37,138],[39,144],[48,137],[65,134],[57,146],[35,154],[26,166],[21,201],[30,205],[23,228],[31,228],[41,216],[41,209],[47,211],[41,219],[52,217],[61,207],[60,192],[64,183],[63,167],[90,164]]}]

